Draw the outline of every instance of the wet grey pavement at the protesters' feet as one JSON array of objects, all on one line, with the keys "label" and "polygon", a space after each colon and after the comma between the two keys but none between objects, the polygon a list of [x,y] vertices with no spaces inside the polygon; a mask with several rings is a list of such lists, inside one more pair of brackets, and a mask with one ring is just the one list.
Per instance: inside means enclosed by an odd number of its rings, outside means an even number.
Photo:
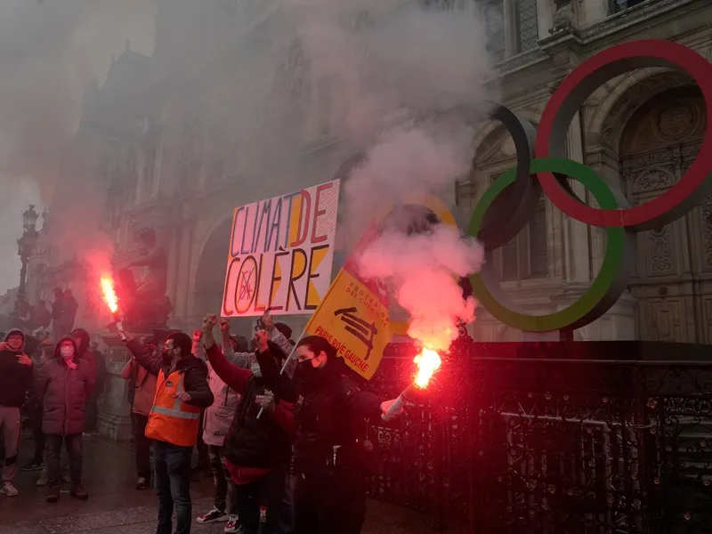
[{"label": "wet grey pavement at the protesters' feet", "polygon": [[[23,437],[20,465],[31,456],[33,443]],[[15,485],[20,495],[0,496],[0,534],[154,534],[156,496],[153,490],[135,490],[134,455],[131,446],[98,437],[85,437],[84,485],[89,500],[69,497],[62,488],[58,503],[48,504],[46,488],[36,487],[39,473],[18,473]],[[212,479],[200,476],[191,485],[194,515],[212,506]],[[376,501],[368,503],[362,534],[420,534],[435,529],[426,516]],[[223,524],[193,523],[196,534],[219,534]]]}]

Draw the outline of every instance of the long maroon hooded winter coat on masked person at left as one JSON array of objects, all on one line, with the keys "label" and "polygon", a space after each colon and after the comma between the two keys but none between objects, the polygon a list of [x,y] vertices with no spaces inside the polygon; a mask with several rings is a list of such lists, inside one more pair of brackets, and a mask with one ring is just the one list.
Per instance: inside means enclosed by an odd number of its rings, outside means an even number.
[{"label": "long maroon hooded winter coat on masked person at left", "polygon": [[[60,354],[60,344],[69,339],[75,346],[69,368]],[[44,402],[42,432],[51,435],[72,435],[84,432],[86,404],[94,388],[93,370],[78,356],[77,340],[63,336],[54,348],[54,357],[44,364],[37,378],[37,394]]]}]

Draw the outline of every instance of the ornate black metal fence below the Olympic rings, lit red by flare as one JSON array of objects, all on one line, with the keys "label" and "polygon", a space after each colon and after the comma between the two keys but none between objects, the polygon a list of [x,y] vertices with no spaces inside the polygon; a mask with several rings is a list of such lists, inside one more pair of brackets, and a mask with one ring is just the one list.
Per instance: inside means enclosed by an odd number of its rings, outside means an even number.
[{"label": "ornate black metal fence below the Olympic rings, lit red by flare", "polygon": [[[712,532],[709,353],[457,342],[430,398],[375,425],[371,496],[441,531]],[[413,355],[393,347],[365,387],[397,394]]]}]

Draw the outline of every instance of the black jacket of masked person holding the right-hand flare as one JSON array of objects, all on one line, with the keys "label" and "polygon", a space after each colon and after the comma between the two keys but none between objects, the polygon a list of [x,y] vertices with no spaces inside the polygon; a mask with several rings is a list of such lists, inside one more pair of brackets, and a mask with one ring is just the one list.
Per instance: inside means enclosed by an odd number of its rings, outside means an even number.
[{"label": "black jacket of masked person holding the right-hand flare", "polygon": [[335,465],[356,465],[358,444],[364,419],[381,417],[378,396],[362,392],[344,376],[344,360],[329,360],[320,370],[320,384],[311,391],[300,391],[295,405],[295,471],[311,476],[326,475]]}]

